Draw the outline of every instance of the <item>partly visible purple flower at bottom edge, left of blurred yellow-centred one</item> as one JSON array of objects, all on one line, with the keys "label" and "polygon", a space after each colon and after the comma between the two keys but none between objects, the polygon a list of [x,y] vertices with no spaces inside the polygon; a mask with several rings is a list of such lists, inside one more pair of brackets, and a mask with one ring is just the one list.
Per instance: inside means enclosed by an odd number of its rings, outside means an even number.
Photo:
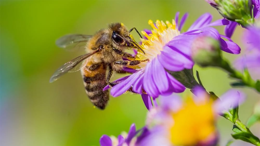
[{"label": "partly visible purple flower at bottom edge, left of blurred yellow-centred one", "polygon": [[122,133],[117,138],[115,136],[102,135],[99,143],[101,146],[134,146],[136,138],[135,124],[132,124],[128,134]]}]

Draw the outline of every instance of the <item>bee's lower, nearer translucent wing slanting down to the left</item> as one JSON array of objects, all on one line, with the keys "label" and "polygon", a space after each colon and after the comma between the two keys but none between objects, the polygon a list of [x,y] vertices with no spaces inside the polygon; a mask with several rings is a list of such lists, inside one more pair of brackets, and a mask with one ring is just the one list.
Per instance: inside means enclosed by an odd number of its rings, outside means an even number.
[{"label": "bee's lower, nearer translucent wing slanting down to the left", "polygon": [[96,52],[98,52],[99,50],[93,51],[91,53],[88,54],[84,54],[81,55],[75,59],[72,59],[71,61],[63,64],[59,69],[57,69],[54,74],[51,76],[50,78],[50,83],[56,81],[60,76],[62,76],[63,74],[69,72],[71,69],[73,69],[77,64],[79,64],[80,62],[82,62],[84,59],[88,58],[89,56],[95,54]]}]

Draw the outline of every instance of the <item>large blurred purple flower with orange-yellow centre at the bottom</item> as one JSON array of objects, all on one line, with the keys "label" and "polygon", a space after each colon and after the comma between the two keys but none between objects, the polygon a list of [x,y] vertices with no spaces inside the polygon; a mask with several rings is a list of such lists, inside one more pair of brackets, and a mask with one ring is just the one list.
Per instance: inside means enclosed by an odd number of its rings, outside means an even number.
[{"label": "large blurred purple flower with orange-yellow centre at the bottom", "polygon": [[220,97],[221,101],[213,101],[204,89],[196,87],[193,91],[196,96],[186,100],[177,95],[162,96],[156,113],[150,110],[147,116],[154,122],[148,123],[148,132],[137,138],[136,145],[216,145],[217,114],[237,107],[245,96],[231,89]]}]

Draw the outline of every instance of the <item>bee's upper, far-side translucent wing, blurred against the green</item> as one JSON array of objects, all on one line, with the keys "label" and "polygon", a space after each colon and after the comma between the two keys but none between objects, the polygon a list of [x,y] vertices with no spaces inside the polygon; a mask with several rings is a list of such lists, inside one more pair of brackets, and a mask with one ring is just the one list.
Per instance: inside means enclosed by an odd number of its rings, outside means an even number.
[{"label": "bee's upper, far-side translucent wing, blurred against the green", "polygon": [[65,50],[75,51],[85,48],[86,43],[91,37],[91,35],[70,34],[60,37],[56,40],[55,44]]}]

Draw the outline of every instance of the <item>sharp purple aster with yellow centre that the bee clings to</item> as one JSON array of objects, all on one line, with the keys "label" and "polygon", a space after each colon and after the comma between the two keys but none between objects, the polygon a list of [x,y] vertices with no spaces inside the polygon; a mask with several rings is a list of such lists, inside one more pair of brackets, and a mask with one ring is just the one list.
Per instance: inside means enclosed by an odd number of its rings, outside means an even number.
[{"label": "sharp purple aster with yellow centre that the bee clings to", "polygon": [[141,39],[142,48],[137,52],[136,60],[149,61],[141,62],[133,68],[136,70],[127,78],[120,79],[119,84],[111,89],[112,96],[119,96],[130,88],[133,92],[139,94],[148,94],[153,98],[159,95],[170,95],[172,92],[183,92],[185,87],[168,71],[181,71],[192,69],[194,62],[191,58],[191,46],[193,40],[199,36],[209,36],[221,43],[223,51],[238,54],[240,48],[230,39],[225,41],[218,31],[210,26],[229,24],[228,20],[221,19],[212,22],[212,16],[206,13],[200,16],[188,29],[181,33],[180,30],[187,18],[185,14],[180,23],[178,22],[179,13],[175,20],[170,23],[157,20],[155,24],[149,20],[148,24],[152,26],[151,31],[142,31],[147,39]]}]

